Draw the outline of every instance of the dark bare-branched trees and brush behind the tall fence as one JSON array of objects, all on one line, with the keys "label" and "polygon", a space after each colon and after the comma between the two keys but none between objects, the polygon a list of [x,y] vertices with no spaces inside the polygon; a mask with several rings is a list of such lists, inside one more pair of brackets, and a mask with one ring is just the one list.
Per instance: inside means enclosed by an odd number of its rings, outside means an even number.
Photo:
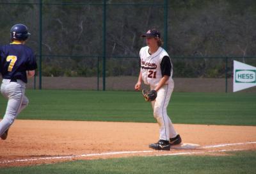
[{"label": "dark bare-branched trees and brush behind the tall fence", "polygon": [[[42,29],[43,75],[88,77],[97,75],[98,67],[102,74],[102,59],[98,57],[102,56],[103,45],[103,1],[43,0],[42,26],[38,2],[0,1],[0,44],[10,42],[13,24],[24,23],[31,33],[28,45],[37,55]],[[106,3],[106,74],[136,75],[138,52],[145,45],[140,35],[156,28],[164,38],[164,1],[108,0]],[[256,1],[253,0],[168,1],[170,56],[205,57],[173,59],[175,75],[222,77],[225,59],[212,61],[206,57],[255,56],[255,28]]]}]

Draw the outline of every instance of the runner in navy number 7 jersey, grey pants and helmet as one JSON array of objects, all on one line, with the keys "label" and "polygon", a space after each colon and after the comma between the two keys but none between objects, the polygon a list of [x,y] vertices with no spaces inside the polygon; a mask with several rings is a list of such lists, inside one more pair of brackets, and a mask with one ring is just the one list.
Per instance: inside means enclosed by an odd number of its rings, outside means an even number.
[{"label": "runner in navy number 7 jersey, grey pants and helmet", "polygon": [[1,94],[8,99],[6,113],[0,122],[1,139],[6,139],[8,130],[20,111],[28,106],[25,96],[28,77],[35,75],[35,55],[25,44],[30,33],[23,24],[11,28],[12,43],[0,46],[0,70],[3,76]]}]

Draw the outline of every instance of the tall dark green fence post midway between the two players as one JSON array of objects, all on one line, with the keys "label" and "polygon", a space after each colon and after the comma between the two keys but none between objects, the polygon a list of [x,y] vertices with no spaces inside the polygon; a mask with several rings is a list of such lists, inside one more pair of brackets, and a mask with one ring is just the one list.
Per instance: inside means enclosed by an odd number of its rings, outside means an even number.
[{"label": "tall dark green fence post midway between the two players", "polygon": [[102,90],[106,90],[106,0],[103,0]]}]

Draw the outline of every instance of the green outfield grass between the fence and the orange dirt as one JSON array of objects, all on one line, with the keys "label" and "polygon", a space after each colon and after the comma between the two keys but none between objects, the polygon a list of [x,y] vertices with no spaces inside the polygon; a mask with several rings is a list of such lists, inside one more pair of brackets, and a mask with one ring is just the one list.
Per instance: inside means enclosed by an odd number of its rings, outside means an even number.
[{"label": "green outfield grass between the fence and the orange dirt", "polygon": [[[27,90],[18,119],[155,122],[152,107],[134,91]],[[0,114],[6,100],[0,98]],[[256,93],[173,93],[173,123],[256,125]]]}]

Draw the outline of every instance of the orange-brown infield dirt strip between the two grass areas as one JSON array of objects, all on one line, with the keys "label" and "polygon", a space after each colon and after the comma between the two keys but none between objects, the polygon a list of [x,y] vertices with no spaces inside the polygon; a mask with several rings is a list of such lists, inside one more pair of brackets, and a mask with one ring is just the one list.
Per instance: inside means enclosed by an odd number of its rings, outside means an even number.
[{"label": "orange-brown infield dirt strip between the two grass areas", "polygon": [[151,150],[148,144],[158,140],[157,123],[16,120],[8,138],[0,140],[0,167],[129,155],[256,150],[253,126],[176,124],[175,129],[184,143],[201,147],[169,152]]}]

